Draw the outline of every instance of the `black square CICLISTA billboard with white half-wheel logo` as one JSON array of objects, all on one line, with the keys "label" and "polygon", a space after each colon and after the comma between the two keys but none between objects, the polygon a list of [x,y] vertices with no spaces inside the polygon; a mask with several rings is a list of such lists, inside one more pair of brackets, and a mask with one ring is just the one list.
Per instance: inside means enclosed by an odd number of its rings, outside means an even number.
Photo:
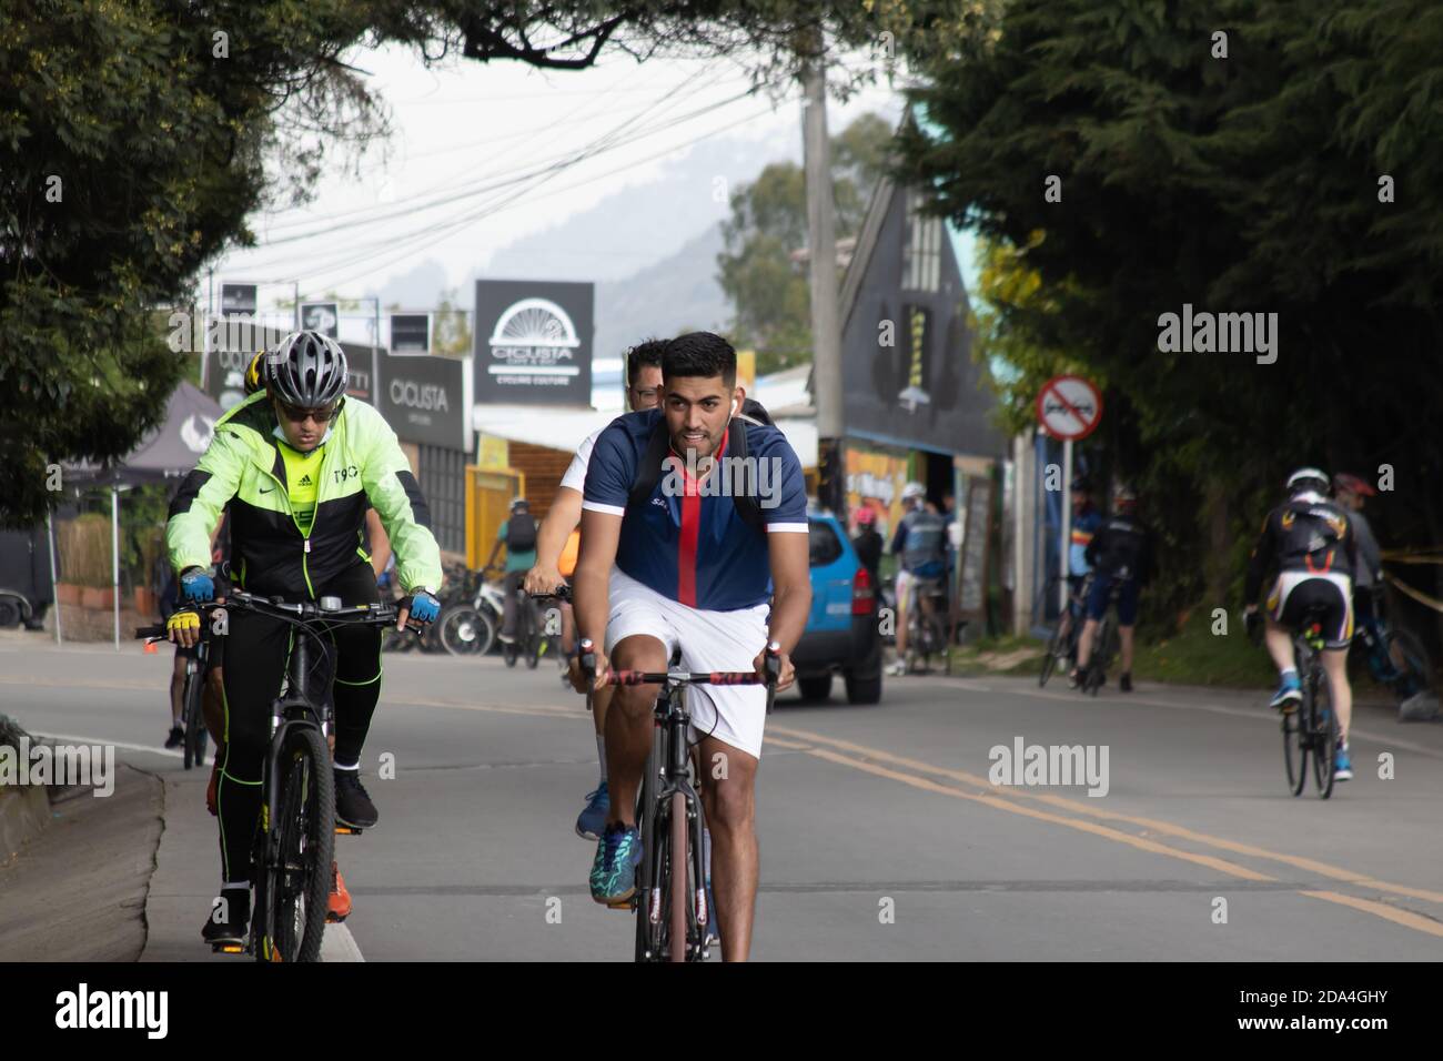
[{"label": "black square CICLISTA billboard with white half-wheel logo", "polygon": [[550,280],[478,280],[476,401],[592,404],[596,287]]}]

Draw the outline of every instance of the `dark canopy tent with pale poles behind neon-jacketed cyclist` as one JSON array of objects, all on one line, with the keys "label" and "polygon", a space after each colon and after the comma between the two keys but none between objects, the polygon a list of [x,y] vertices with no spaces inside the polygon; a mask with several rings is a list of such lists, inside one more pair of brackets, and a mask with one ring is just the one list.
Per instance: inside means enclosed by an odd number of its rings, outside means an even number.
[{"label": "dark canopy tent with pale poles behind neon-jacketed cyclist", "polygon": [[[76,463],[65,466],[62,482],[76,489],[110,488],[111,589],[115,595],[115,651],[120,651],[120,491],[147,482],[177,478],[195,468],[215,433],[221,407],[190,383],[182,381],[166,404],[166,419],[140,445],[114,465]],[[51,556],[55,528],[51,527]],[[55,563],[51,563],[55,582]],[[62,641],[61,612],[55,611],[55,639]]]}]

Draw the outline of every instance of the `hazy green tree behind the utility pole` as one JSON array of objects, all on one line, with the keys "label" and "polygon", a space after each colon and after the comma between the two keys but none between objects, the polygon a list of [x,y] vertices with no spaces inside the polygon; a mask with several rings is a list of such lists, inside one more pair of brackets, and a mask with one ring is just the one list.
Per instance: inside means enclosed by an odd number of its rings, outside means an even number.
[{"label": "hazy green tree behind the utility pole", "polygon": [[[833,137],[837,240],[856,237],[877,179],[886,170],[892,128],[863,114]],[[717,256],[722,290],[736,310],[733,341],[756,349],[756,371],[773,372],[811,358],[811,292],[805,261],[807,176],[778,162],[732,193]]]}]

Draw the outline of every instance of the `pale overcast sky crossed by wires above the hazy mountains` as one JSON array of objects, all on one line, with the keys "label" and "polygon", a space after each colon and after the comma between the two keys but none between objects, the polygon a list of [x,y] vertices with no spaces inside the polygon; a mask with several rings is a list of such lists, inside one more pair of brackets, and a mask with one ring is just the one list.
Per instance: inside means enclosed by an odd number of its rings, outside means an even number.
[{"label": "pale overcast sky crossed by wires above the hazy mountains", "polygon": [[[427,68],[404,48],[348,58],[371,72],[391,108],[385,150],[368,152],[359,179],[323,178],[306,209],[253,218],[260,245],[218,264],[216,284],[274,281],[263,305],[289,297],[291,279],[303,299],[361,296],[426,258],[462,284],[498,248],[626,185],[657,180],[668,157],[706,137],[743,137],[762,156],[758,169],[799,154],[799,91],[781,104],[743,97],[749,81],[734,61],[642,65],[615,55],[569,72],[465,59]],[[883,82],[846,105],[834,101],[828,127],[835,133],[867,110],[899,113],[900,97]],[[589,157],[553,166],[583,152]],[[707,185],[698,195],[714,193]]]}]

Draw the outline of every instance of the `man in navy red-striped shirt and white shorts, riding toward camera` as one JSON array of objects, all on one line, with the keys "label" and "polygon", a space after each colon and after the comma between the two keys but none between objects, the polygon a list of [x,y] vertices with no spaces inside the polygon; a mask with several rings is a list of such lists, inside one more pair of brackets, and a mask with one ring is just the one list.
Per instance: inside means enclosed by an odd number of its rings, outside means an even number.
[{"label": "man in navy red-striped shirt and white shorts, riding toward camera", "polygon": [[[596,652],[596,681],[605,681],[612,665],[667,670],[678,645],[684,670],[765,673],[771,647],[781,654],[778,689],[785,689],[794,680],[791,650],[811,609],[801,462],[779,430],[736,416],[746,394],[736,385],[736,351],[722,336],[693,332],[670,341],[661,372],[661,409],[628,413],[602,432],[582,492],[576,621],[583,639],[605,645]],[[670,443],[661,449],[665,469],[648,468],[658,453],[654,430]],[[743,471],[755,472],[749,504],[734,495],[743,476],[726,460],[742,432],[749,458]],[[651,473],[655,486],[632,499],[638,476]],[[612,820],[592,868],[597,902],[620,902],[636,889],[641,837],[633,811],[655,700],[657,686],[623,686],[606,716]],[[722,956],[746,960],[766,690],[694,686],[688,703],[704,764],[701,800],[711,830]],[[713,769],[719,761],[724,771]]]}]

